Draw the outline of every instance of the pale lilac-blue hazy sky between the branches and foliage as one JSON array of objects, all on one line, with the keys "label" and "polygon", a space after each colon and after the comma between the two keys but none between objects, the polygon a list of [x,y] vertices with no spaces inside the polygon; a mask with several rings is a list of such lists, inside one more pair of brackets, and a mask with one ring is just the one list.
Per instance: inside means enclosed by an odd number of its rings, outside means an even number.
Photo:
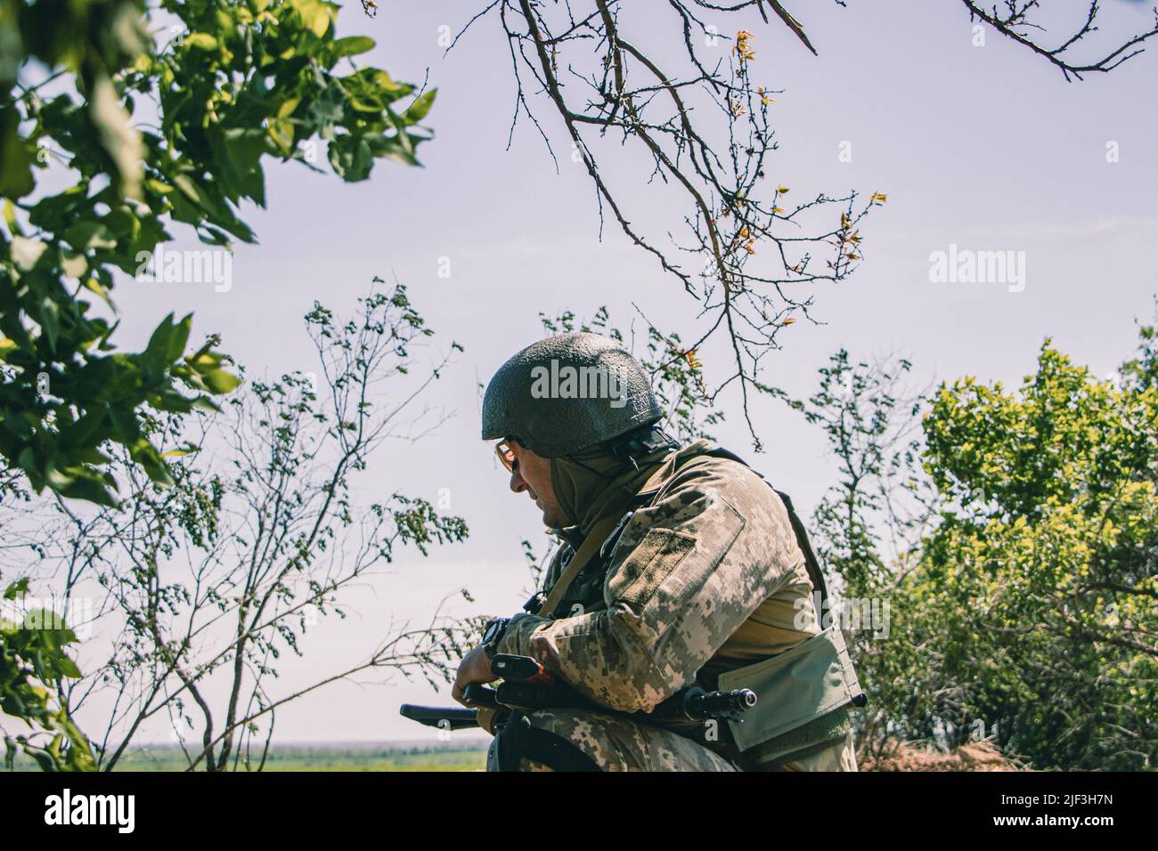
[{"label": "pale lilac-blue hazy sky between the branches and foliage", "polygon": [[[307,637],[305,660],[285,666],[274,694],[371,650],[391,614],[428,617],[459,586],[478,600],[459,606],[462,614],[510,614],[522,602],[519,542],[542,541],[538,513],[505,490],[505,475],[478,439],[476,382],[543,336],[538,311],[591,315],[608,305],[626,324],[635,301],[661,328],[686,338],[695,330],[695,305],[648,256],[613,227],[598,241],[581,166],[564,155],[556,175],[525,122],[505,151],[513,83],[497,21],[481,21],[444,59],[439,27],[457,31],[479,6],[386,0],[375,20],[357,3],[339,19],[344,34],[378,39],[366,61],[403,80],[420,81],[430,69],[439,88],[428,119],[437,135],[420,149],[424,168],[379,163],[371,181],[352,185],[296,166],[270,168],[269,210],[247,218],[261,244],[237,248],[228,293],[127,281],[116,292],[123,345],[142,345],[170,310],[192,310],[195,335],[222,333],[223,349],[251,374],[313,368],[302,314],[315,299],[349,311],[374,274],[397,276],[435,339],[466,346],[430,399],[454,418],[404,452],[387,447],[360,486],[367,501],[394,490],[433,500],[448,489],[450,511],[470,526],[469,542],[428,559],[400,558],[350,599],[356,616]],[[1152,316],[1158,291],[1158,47],[1109,75],[1067,83],[992,32],[987,46],[974,47],[954,0],[796,6],[819,58],[776,23],[745,24],[755,34],[753,74],[784,89],[772,112],[780,140],[774,179],[791,186],[793,199],[857,189],[887,192],[889,200],[862,228],[863,267],[840,285],[816,287],[814,315],[827,324],[787,329],[784,351],[765,361],[768,380],[806,394],[816,367],[845,346],[855,357],[908,355],[915,384],[963,374],[1017,381],[1047,336],[1099,373],[1113,369],[1133,349],[1135,317]],[[1071,19],[1080,15],[1082,3],[1069,6]],[[655,41],[666,31],[658,21],[669,21],[660,9],[648,12],[658,15],[648,34]],[[1146,6],[1121,1],[1106,3],[1104,15],[1107,36],[1152,21]],[[736,28],[721,20],[721,30]],[[566,154],[560,122],[543,102],[538,115]],[[851,163],[837,161],[842,140],[852,144]],[[1106,161],[1112,140],[1120,146],[1116,163]],[[623,198],[635,221],[669,214],[645,186],[625,186]],[[1025,291],[931,284],[929,255],[951,243],[1025,251]],[[437,274],[440,257],[450,258],[449,279]],[[712,354],[704,353],[709,371]],[[719,436],[750,456],[735,398],[723,406],[730,425]],[[757,403],[754,415],[768,450],[749,460],[809,511],[833,472],[823,436],[776,404]],[[420,684],[338,684],[281,712],[278,740],[423,739],[427,731],[397,718],[397,704],[448,699]],[[168,741],[164,728],[153,734]]]}]

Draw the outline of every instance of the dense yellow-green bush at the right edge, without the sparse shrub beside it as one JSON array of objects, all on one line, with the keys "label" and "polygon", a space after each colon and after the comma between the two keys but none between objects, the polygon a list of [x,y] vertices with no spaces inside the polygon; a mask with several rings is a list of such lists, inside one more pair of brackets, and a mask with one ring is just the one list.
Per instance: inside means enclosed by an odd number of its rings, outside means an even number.
[{"label": "dense yellow-green bush at the right edge, without the sparse shrub beside it", "polygon": [[1047,342],[1017,393],[954,382],[925,423],[948,506],[914,592],[972,712],[1042,768],[1158,757],[1158,386],[1137,362],[1117,388]]}]

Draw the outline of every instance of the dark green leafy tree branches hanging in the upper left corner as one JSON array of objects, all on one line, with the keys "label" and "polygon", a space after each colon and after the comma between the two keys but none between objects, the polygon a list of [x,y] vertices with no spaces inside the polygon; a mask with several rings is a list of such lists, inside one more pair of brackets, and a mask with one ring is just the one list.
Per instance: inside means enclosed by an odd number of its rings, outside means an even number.
[{"label": "dark green leafy tree branches hanging in the upper left corner", "polygon": [[266,157],[315,168],[321,140],[346,181],[376,159],[417,164],[434,91],[356,67],[374,42],[337,38],[337,9],[0,0],[0,455],[37,492],[112,505],[107,441],[168,484],[142,406],[212,408],[239,383],[217,339],[186,353],[190,316],[116,352],[89,295],[112,308],[117,273],[138,274],[174,223],[254,242],[241,205],[264,206]]}]

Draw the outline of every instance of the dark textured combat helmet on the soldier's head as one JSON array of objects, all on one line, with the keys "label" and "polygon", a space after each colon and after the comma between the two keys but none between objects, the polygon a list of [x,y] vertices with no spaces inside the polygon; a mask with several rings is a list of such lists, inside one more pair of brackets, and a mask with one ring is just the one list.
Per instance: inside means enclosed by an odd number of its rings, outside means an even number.
[{"label": "dark textured combat helmet on the soldier's head", "polygon": [[499,367],[483,397],[483,440],[514,438],[556,458],[662,416],[638,360],[610,337],[576,331],[533,343]]}]

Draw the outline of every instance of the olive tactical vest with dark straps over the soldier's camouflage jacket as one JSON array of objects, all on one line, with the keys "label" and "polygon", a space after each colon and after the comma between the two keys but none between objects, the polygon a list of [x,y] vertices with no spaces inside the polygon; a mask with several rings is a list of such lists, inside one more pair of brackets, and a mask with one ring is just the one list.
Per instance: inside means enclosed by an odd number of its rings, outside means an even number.
[{"label": "olive tactical vest with dark straps over the soldier's camouflage jacket", "polygon": [[[727,458],[748,467],[738,455],[721,447],[692,455],[682,460],[682,463],[703,456]],[[536,614],[554,614],[556,617],[572,617],[606,608],[603,586],[614,559],[615,545],[630,522],[633,509],[653,502],[662,478],[674,475],[674,469],[665,474],[666,467],[665,464],[643,486],[631,506],[632,511],[618,521],[601,542],[599,550],[592,553],[582,570],[570,580],[551,611],[538,611],[544,600],[542,593],[532,597],[525,608]],[[758,471],[753,472],[763,478]],[[792,500],[787,494],[776,491],[770,482],[764,482],[787,509],[808,578],[813,588],[820,593],[822,611],[827,610],[828,586]],[[593,530],[593,534],[599,533],[598,528]],[[567,555],[571,559],[576,557],[573,549],[570,553],[560,553]],[[560,558],[556,581],[569,564],[570,559]],[[816,612],[820,625],[823,625],[822,611]],[[775,768],[830,747],[835,741],[844,739],[850,729],[848,707],[863,706],[866,702],[837,623],[783,653],[757,662],[709,672],[710,667],[711,663],[697,674],[697,684],[708,689],[752,689],[758,697],[756,706],[743,714],[742,721],[727,721],[726,736],[712,736],[698,722],[674,725],[670,728],[735,760],[748,770]]]}]

